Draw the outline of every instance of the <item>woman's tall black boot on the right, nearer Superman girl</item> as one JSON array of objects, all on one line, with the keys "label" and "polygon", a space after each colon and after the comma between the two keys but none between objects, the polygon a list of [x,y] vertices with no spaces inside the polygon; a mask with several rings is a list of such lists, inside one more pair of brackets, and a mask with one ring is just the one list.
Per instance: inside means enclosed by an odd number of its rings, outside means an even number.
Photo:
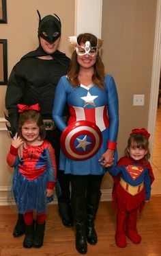
[{"label": "woman's tall black boot on the right, nearer Superman girl", "polygon": [[96,219],[100,197],[101,192],[98,194],[87,194],[87,242],[89,242],[89,244],[97,244],[98,242],[94,221]]}]

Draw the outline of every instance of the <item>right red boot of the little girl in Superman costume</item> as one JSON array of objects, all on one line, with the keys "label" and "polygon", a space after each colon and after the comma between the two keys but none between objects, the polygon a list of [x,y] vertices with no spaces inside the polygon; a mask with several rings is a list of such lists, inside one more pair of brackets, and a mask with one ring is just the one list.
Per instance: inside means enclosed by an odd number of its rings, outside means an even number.
[{"label": "right red boot of the little girl in Superman costume", "polygon": [[137,210],[134,209],[128,213],[128,221],[127,221],[127,229],[126,235],[132,240],[134,244],[139,244],[141,242],[141,235],[138,235],[136,229],[136,221],[137,221]]}]

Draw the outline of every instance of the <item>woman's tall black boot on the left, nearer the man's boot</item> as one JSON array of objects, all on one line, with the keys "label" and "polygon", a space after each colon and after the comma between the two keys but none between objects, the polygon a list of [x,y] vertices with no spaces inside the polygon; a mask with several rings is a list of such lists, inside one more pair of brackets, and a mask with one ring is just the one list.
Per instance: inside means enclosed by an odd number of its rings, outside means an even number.
[{"label": "woman's tall black boot on the left, nearer the man's boot", "polygon": [[85,254],[87,253],[85,200],[72,199],[72,211],[76,226],[76,250],[78,253]]}]

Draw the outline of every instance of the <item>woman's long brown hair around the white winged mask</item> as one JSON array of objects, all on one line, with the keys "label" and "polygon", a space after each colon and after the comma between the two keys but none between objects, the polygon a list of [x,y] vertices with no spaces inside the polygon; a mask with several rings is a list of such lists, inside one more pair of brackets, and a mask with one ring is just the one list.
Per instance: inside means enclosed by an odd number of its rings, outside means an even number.
[{"label": "woman's long brown hair around the white winged mask", "polygon": [[[98,44],[98,38],[90,33],[80,34],[77,37],[78,45],[81,45],[81,43],[86,43],[89,41],[91,43],[91,47],[96,47]],[[80,82],[78,80],[78,73],[79,73],[80,65],[77,61],[77,54],[76,51],[73,52],[71,63],[70,63],[70,71],[68,73],[68,80],[70,81],[70,84],[72,86],[76,87],[80,85]],[[100,51],[98,51],[98,54],[96,56],[96,63],[94,65],[94,73],[92,75],[92,81],[93,84],[96,84],[101,89],[104,89],[104,63],[102,62],[102,59],[100,57]]]}]

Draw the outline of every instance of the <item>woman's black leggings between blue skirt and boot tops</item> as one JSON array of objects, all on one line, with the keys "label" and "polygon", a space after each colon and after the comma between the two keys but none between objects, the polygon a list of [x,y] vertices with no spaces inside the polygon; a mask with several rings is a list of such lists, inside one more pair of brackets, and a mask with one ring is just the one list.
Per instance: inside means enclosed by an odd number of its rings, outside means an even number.
[{"label": "woman's black leggings between blue skirt and boot tops", "polygon": [[72,185],[71,198],[85,199],[87,194],[98,194],[103,175],[70,175]]}]

